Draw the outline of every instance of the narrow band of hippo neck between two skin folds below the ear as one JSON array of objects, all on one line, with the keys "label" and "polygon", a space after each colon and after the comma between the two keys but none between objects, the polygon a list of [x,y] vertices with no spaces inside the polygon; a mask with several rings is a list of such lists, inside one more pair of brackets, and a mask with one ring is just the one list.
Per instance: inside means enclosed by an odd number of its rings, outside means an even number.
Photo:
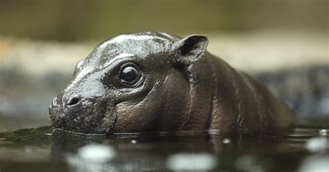
[{"label": "narrow band of hippo neck between two skin folds below the ear", "polygon": [[208,130],[212,115],[212,71],[206,54],[199,62],[187,67],[189,107],[179,130]]}]

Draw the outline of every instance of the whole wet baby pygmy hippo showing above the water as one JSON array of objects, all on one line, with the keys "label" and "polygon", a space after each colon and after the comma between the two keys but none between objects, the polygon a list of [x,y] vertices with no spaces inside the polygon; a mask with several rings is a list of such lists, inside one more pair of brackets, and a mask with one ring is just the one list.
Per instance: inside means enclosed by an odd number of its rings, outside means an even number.
[{"label": "whole wet baby pygmy hippo showing above the water", "polygon": [[204,35],[119,35],[78,62],[49,107],[54,130],[85,134],[270,133],[292,112],[253,78],[206,51]]}]

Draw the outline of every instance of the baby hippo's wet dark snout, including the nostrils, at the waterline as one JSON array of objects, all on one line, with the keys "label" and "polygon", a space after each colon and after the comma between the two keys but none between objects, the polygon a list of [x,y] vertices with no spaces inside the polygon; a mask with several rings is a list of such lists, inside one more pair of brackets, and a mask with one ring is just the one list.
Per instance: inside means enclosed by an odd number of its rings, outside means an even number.
[{"label": "baby hippo's wet dark snout, including the nostrils, at the waterline", "polygon": [[78,95],[63,98],[59,95],[53,98],[49,106],[51,126],[53,130],[105,134],[108,130],[104,129],[101,123],[109,108],[103,104],[99,98]]}]

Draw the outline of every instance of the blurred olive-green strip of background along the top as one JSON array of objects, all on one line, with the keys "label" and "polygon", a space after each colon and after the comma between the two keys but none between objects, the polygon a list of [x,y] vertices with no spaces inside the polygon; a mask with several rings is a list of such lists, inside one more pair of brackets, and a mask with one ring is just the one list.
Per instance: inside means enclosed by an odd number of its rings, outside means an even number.
[{"label": "blurred olive-green strip of background along the top", "polygon": [[0,9],[1,35],[40,40],[104,40],[137,31],[328,30],[327,0],[1,0]]}]

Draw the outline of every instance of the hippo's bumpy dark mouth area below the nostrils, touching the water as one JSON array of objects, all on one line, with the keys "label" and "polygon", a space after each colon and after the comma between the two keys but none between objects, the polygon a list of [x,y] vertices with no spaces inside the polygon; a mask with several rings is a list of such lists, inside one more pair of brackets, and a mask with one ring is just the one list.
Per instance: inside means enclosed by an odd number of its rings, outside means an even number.
[{"label": "hippo's bumpy dark mouth area below the nostrils, touching the water", "polygon": [[110,134],[115,121],[112,110],[104,101],[81,98],[69,104],[54,98],[49,106],[51,128],[84,135]]}]

